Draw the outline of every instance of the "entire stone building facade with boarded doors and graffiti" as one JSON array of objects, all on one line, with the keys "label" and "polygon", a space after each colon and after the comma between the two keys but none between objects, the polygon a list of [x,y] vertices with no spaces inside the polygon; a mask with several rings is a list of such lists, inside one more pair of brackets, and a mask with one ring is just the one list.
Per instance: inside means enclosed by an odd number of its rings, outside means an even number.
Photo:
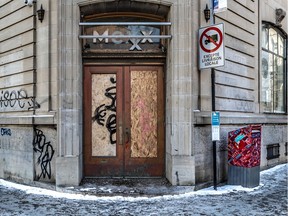
[{"label": "entire stone building facade with boarded doors and graffiti", "polygon": [[[211,69],[198,59],[206,4],[1,0],[0,178],[210,183]],[[215,14],[225,32],[225,65],[215,68],[218,182],[227,179],[228,132],[247,125],[262,127],[262,169],[287,162],[287,12],[286,0],[229,0]],[[269,75],[266,54],[280,58]]]}]

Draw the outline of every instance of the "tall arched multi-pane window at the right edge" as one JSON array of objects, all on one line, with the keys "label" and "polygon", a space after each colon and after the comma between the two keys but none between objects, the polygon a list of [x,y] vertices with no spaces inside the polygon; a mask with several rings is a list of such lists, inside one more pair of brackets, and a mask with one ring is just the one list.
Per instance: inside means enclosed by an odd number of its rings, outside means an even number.
[{"label": "tall arched multi-pane window at the right edge", "polygon": [[287,36],[268,23],[262,25],[261,104],[267,113],[286,113]]}]

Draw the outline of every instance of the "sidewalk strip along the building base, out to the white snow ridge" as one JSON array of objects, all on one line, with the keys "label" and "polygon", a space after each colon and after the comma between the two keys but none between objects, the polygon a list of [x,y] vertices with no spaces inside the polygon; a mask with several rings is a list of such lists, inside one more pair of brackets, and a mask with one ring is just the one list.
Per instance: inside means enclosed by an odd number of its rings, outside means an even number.
[{"label": "sidewalk strip along the building base, out to the white snow ridge", "polygon": [[[280,171],[281,170],[281,171]],[[280,171],[280,172],[279,172]],[[283,172],[284,171],[284,172]],[[213,186],[173,186],[165,178],[87,178],[79,186],[75,187],[56,187],[54,184],[43,182],[33,182],[31,184],[21,185],[0,179],[0,186],[22,189],[29,186],[35,190],[50,190],[55,193],[74,194],[80,196],[95,197],[161,197],[165,195],[219,195],[236,191],[254,191],[262,190],[263,187],[269,187],[276,182],[286,185],[288,175],[288,164],[280,164],[270,169],[260,172],[260,185],[255,188],[244,188],[238,185],[218,184],[217,190]],[[285,181],[286,179],[286,181]],[[283,182],[284,181],[284,182]],[[212,184],[212,183],[211,183]],[[280,186],[280,185],[279,185]],[[204,189],[201,189],[204,188]],[[201,190],[199,190],[201,189]],[[34,191],[34,189],[32,190]],[[43,192],[43,191],[42,191]],[[287,193],[287,189],[286,189]]]}]

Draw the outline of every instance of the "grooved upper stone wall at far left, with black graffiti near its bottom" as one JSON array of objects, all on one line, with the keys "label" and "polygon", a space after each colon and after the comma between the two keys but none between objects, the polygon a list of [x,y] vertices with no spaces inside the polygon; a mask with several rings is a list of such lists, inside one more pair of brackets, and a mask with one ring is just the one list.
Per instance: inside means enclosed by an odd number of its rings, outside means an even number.
[{"label": "grooved upper stone wall at far left, with black graffiti near its bottom", "polygon": [[33,8],[21,1],[1,1],[0,6],[0,115],[31,112],[35,96]]}]

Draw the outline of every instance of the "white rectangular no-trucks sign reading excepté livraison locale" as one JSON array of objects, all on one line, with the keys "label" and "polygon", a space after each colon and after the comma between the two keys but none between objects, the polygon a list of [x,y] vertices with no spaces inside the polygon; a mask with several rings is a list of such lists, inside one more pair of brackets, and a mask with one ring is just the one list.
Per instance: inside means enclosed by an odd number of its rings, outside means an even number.
[{"label": "white rectangular no-trucks sign reading except\u00e9 livraison locale", "polygon": [[199,68],[224,65],[224,24],[199,29]]}]

